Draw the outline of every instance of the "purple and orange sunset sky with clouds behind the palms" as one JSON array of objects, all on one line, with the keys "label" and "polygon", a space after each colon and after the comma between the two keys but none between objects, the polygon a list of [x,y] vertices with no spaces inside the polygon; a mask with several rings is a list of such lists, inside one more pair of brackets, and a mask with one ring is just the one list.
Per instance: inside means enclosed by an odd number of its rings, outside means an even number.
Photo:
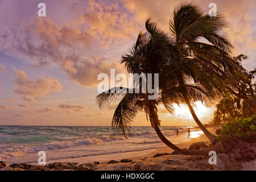
[{"label": "purple and orange sunset sky with clouds behind the palms", "polygon": [[[39,17],[39,3],[46,17]],[[97,76],[110,68],[126,73],[121,56],[144,31],[148,16],[168,30],[175,6],[168,0],[0,0],[0,125],[110,126],[116,105],[99,109]],[[190,1],[189,1],[190,2]],[[233,55],[248,56],[247,70],[256,67],[256,2],[192,1],[205,14],[216,3],[217,14],[229,22],[224,34]],[[214,105],[197,103],[203,123]],[[171,115],[159,107],[162,125],[195,125],[185,106]],[[150,126],[139,113],[133,126]]]}]

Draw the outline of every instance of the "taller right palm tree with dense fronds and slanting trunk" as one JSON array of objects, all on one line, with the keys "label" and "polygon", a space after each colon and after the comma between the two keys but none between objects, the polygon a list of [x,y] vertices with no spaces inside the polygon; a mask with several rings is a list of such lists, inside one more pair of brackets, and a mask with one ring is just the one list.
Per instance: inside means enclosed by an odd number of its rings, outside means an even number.
[{"label": "taller right palm tree with dense fronds and slanting trunk", "polygon": [[[230,56],[233,46],[221,35],[224,27],[226,22],[222,15],[203,15],[199,7],[190,3],[177,7],[170,19],[173,43],[168,52],[167,73],[176,78],[179,87],[175,91],[181,93],[193,119],[212,143],[216,142],[216,136],[200,122],[191,103],[196,100],[205,102],[205,93],[210,100],[221,97],[225,82],[230,77],[240,76],[238,73],[242,68]],[[200,85],[201,89],[185,86],[188,82]],[[191,94],[197,94],[196,100]]]}]

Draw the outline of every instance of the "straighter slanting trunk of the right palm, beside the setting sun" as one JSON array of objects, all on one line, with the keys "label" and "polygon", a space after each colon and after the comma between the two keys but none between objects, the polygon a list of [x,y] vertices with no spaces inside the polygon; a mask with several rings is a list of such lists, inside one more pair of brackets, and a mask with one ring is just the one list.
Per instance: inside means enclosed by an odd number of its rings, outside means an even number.
[{"label": "straighter slanting trunk of the right palm, beside the setting sun", "polygon": [[191,106],[189,100],[187,97],[185,97],[185,102],[188,105],[188,109],[192,114],[193,119],[196,121],[197,125],[200,127],[200,129],[204,132],[204,134],[207,136],[207,138],[210,140],[210,142],[212,144],[215,144],[217,142],[217,137],[215,135],[213,135],[212,133],[210,133],[205,126],[200,122],[199,118],[197,118],[197,115],[193,109],[193,107]]}]

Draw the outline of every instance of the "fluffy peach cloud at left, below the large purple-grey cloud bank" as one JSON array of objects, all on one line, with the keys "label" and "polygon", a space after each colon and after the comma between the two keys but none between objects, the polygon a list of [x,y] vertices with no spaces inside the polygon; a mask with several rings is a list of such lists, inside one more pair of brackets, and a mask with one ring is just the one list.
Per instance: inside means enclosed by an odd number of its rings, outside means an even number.
[{"label": "fluffy peach cloud at left, below the large purple-grey cloud bank", "polygon": [[41,76],[38,80],[31,80],[24,71],[15,69],[14,92],[23,95],[26,101],[35,100],[34,97],[47,97],[51,92],[61,92],[63,86],[53,78]]}]

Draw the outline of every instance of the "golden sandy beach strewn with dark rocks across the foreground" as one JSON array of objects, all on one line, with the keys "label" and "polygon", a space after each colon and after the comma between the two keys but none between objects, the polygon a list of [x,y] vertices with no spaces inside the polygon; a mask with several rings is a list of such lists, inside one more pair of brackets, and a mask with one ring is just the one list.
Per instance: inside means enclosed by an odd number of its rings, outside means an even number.
[{"label": "golden sandy beach strewn with dark rocks across the foreground", "polygon": [[[203,142],[206,146],[210,143],[204,134],[196,129],[195,138],[176,143],[180,148],[189,148],[192,143]],[[214,129],[210,129],[214,132]],[[37,163],[11,164],[2,170],[83,170],[83,171],[199,171],[199,170],[255,170],[256,162],[238,163],[229,160],[226,154],[217,154],[217,164],[209,164],[210,156],[189,156],[175,154],[169,147],[152,148],[150,150],[112,154],[108,160],[101,156],[90,158],[70,158],[47,161],[46,166]],[[141,153],[141,155],[139,155]],[[132,157],[134,156],[134,157]],[[112,158],[112,160],[109,160]],[[100,159],[100,160],[99,160]]]}]

